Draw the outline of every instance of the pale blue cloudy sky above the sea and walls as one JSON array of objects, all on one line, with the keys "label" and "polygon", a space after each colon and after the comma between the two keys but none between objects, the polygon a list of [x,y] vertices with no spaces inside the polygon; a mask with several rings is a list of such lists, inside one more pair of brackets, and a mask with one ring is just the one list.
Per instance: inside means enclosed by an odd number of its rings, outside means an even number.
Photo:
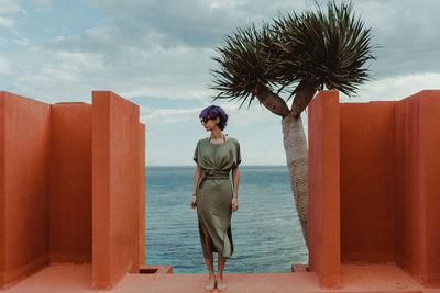
[{"label": "pale blue cloudy sky above the sea and walls", "polygon": [[[326,1],[317,0],[319,3]],[[268,4],[271,3],[271,4]],[[373,27],[372,80],[341,102],[402,100],[440,89],[440,1],[354,0]],[[146,166],[194,166],[207,137],[198,114],[218,92],[216,47],[237,27],[312,0],[0,0],[0,91],[46,103],[91,103],[111,90],[140,105]],[[243,165],[285,165],[280,117],[258,103],[216,101]],[[307,112],[302,114],[307,133]]]}]

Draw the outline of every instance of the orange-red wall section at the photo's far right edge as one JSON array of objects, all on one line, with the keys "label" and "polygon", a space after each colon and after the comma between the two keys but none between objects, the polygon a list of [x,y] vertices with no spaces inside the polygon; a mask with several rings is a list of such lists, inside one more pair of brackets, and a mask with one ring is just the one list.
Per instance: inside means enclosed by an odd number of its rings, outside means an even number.
[{"label": "orange-red wall section at the photo's far right edge", "polygon": [[397,263],[440,283],[440,91],[396,105]]}]

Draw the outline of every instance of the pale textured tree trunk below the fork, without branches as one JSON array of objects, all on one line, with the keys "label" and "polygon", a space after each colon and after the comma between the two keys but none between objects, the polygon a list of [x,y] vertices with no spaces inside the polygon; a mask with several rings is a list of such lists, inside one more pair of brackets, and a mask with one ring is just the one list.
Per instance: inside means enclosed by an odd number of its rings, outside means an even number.
[{"label": "pale textured tree trunk below the fork, without branches", "polygon": [[307,140],[300,116],[293,113],[283,117],[284,149],[287,167],[290,172],[292,191],[294,192],[296,210],[301,223],[302,236],[308,247],[308,151]]}]

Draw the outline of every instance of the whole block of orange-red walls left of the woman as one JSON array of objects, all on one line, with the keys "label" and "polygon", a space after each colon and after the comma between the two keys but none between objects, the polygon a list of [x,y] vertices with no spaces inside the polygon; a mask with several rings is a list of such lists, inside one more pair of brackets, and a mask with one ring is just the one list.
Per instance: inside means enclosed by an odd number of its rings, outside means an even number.
[{"label": "whole block of orange-red walls left of the woman", "polygon": [[95,289],[139,272],[144,151],[139,106],[112,92],[92,104],[0,92],[0,289],[54,262],[91,263]]}]

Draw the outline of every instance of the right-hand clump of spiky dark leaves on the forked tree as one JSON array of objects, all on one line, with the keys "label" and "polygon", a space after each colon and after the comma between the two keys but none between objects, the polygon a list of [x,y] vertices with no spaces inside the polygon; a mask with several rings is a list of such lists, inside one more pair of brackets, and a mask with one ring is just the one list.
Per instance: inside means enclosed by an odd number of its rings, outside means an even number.
[{"label": "right-hand clump of spiky dark leaves on the forked tree", "polygon": [[367,61],[374,59],[372,29],[353,13],[353,5],[330,1],[327,11],[287,13],[275,20],[279,36],[279,83],[306,81],[317,88],[356,92],[369,80]]}]

